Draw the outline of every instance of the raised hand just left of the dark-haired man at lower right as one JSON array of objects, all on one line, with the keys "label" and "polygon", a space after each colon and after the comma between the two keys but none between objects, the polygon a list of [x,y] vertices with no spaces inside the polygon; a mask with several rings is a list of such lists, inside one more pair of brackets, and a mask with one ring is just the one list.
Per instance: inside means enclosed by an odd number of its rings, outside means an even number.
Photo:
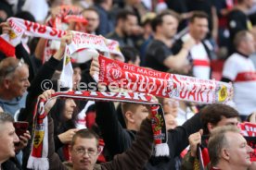
[{"label": "raised hand just left of the dark-haired man at lower right", "polygon": [[197,133],[193,133],[188,137],[191,156],[195,157],[197,153],[198,144],[201,144],[201,137],[203,134],[203,130],[200,129]]}]

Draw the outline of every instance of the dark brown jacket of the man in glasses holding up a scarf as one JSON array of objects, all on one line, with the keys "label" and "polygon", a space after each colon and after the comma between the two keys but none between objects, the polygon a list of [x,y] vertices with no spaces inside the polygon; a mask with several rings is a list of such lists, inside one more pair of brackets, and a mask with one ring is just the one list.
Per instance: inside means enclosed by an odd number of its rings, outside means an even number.
[{"label": "dark brown jacket of the man in glasses holding up a scarf", "polygon": [[[72,164],[61,163],[54,146],[53,119],[48,118],[48,160],[50,169],[69,170]],[[96,164],[94,170],[141,170],[151,156],[153,148],[153,132],[150,120],[143,121],[136,140],[129,150],[116,155],[111,162]]]}]

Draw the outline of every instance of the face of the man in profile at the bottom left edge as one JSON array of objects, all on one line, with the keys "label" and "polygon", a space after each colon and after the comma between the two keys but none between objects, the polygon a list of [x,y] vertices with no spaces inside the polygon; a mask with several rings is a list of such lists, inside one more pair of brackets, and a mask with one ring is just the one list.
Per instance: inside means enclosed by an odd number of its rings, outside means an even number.
[{"label": "face of the man in profile at the bottom left edge", "polygon": [[[12,122],[1,123],[0,125],[0,157],[9,159],[15,156],[14,144],[19,142]],[[1,160],[2,161],[2,160]]]}]

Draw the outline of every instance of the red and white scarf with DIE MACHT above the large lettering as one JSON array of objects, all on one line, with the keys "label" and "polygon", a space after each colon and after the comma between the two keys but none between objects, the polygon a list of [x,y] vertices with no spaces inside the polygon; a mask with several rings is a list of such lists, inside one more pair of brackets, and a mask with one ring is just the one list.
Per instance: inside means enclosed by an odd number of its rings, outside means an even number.
[{"label": "red and white scarf with DIE MACHT above the large lettering", "polygon": [[136,67],[103,55],[98,61],[99,75],[94,79],[109,89],[121,88],[195,103],[225,103],[233,91],[231,84],[214,79],[197,79]]}]

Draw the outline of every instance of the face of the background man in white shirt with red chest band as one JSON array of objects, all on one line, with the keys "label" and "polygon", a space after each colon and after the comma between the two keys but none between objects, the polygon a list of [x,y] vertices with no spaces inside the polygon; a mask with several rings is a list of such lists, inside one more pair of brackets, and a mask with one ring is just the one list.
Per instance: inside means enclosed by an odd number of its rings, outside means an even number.
[{"label": "face of the background man in white shirt with red chest band", "polygon": [[197,41],[205,39],[208,33],[208,20],[207,18],[195,18],[193,22],[189,23],[190,35]]}]

